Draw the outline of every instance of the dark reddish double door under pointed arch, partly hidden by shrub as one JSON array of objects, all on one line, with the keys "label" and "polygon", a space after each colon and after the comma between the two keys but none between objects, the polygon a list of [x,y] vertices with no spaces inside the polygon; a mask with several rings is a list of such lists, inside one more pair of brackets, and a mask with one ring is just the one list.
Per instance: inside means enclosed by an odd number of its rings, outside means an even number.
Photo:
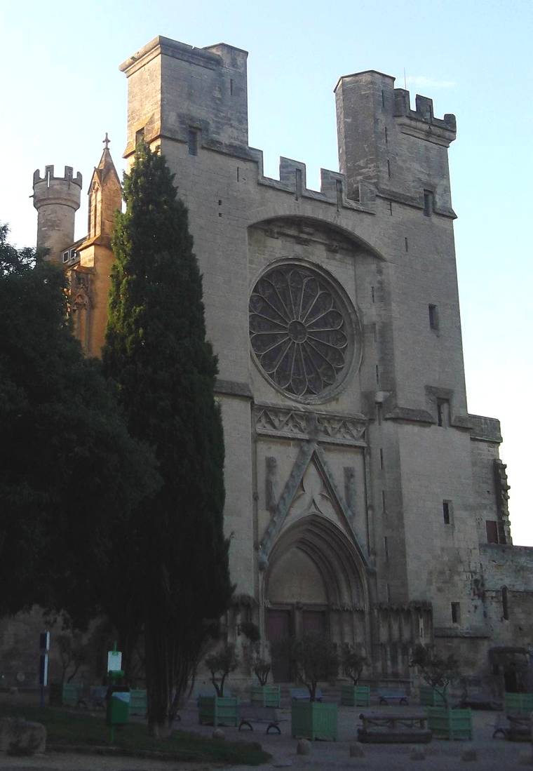
[{"label": "dark reddish double door under pointed arch, partly hidden by shrub", "polygon": [[313,608],[268,608],[267,640],[272,644],[272,677],[274,682],[293,680],[290,663],[290,640],[309,632],[325,634],[326,611]]}]

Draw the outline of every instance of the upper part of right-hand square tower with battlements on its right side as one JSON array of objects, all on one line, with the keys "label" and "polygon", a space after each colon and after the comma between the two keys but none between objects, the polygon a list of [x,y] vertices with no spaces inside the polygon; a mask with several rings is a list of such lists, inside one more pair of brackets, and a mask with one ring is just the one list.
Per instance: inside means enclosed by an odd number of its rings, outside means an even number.
[{"label": "upper part of right-hand square tower with battlements on its right side", "polygon": [[335,97],[348,197],[357,199],[366,182],[391,204],[453,219],[447,153],[455,116],[436,118],[427,96],[418,95],[411,109],[407,89],[394,88],[394,78],[376,70],[343,76]]}]

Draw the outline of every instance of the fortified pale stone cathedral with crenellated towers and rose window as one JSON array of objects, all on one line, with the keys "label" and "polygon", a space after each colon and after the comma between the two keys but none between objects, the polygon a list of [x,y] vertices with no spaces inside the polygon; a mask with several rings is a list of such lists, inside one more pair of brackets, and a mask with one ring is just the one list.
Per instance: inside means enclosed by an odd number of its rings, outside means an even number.
[{"label": "fortified pale stone cathedral with crenellated towers and rose window", "polygon": [[[370,70],[335,88],[340,172],[249,146],[246,52],[158,37],[121,66],[125,157],[144,138],[176,174],[219,357],[228,618],[263,639],[324,631],[366,651],[367,676],[407,678],[417,641],[479,669],[528,645],[531,551],[511,546],[498,420],[468,413],[448,147],[453,115]],[[73,243],[81,176],[35,173],[39,245],[69,272],[75,333],[106,327],[109,149]],[[186,452],[186,448],[184,448]],[[273,674],[291,678],[277,658]]]}]

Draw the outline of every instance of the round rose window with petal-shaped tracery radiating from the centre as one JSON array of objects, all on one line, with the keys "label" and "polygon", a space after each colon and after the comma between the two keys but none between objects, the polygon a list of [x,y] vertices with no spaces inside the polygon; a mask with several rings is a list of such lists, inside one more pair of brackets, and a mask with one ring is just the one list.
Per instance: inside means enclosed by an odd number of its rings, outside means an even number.
[{"label": "round rose window with petal-shaped tracery radiating from the centre", "polygon": [[351,319],[327,278],[281,265],[257,281],[250,298],[250,341],[274,385],[299,399],[334,389],[351,360]]}]

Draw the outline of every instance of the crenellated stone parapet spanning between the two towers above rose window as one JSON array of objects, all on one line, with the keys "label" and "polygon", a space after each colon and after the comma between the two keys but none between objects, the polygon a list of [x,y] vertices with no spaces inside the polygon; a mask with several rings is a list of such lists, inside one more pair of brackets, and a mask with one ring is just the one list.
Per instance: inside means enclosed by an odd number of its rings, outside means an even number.
[{"label": "crenellated stone parapet spanning between the two towers above rose window", "polygon": [[325,204],[331,204],[341,208],[364,211],[367,214],[375,213],[376,194],[373,187],[363,180],[357,188],[357,195],[347,196],[347,183],[344,174],[329,169],[320,169],[320,190],[310,190],[307,187],[306,164],[299,160],[280,157],[280,179],[265,177],[263,170],[263,151],[250,147],[250,155],[256,161],[258,167],[257,182],[260,185],[274,187],[293,194],[299,200],[307,198],[319,200]]}]

